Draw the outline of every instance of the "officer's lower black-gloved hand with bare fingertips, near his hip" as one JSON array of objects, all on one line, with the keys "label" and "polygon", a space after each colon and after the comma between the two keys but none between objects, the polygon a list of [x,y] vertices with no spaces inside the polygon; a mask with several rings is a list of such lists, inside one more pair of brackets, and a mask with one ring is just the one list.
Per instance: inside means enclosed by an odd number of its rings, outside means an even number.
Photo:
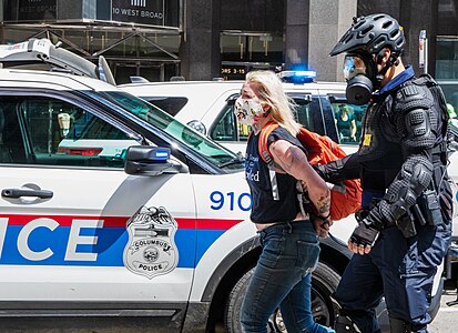
[{"label": "officer's lower black-gloved hand with bare fingertips, near his hip", "polygon": [[367,216],[359,221],[359,225],[356,226],[355,231],[348,240],[348,249],[354,253],[367,254],[374,246],[380,231],[383,229],[383,223],[375,222],[374,213],[370,212]]}]

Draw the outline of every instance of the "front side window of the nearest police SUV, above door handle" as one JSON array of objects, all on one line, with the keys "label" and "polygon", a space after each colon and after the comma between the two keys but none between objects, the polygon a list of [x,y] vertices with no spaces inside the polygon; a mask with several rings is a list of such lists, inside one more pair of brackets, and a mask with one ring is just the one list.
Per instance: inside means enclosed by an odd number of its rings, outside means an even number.
[{"label": "front side window of the nearest police SUV, above door handle", "polygon": [[0,97],[8,131],[3,163],[123,168],[139,144],[104,120],[49,97]]}]

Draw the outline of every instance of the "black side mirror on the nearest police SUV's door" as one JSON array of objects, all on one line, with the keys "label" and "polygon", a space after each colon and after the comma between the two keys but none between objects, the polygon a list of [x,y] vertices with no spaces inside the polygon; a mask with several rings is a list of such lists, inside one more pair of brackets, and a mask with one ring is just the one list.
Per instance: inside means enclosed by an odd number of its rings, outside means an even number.
[{"label": "black side mirror on the nearest police SUV's door", "polygon": [[151,145],[132,145],[125,152],[124,172],[128,174],[160,175],[179,173],[181,163],[170,160],[170,149]]}]

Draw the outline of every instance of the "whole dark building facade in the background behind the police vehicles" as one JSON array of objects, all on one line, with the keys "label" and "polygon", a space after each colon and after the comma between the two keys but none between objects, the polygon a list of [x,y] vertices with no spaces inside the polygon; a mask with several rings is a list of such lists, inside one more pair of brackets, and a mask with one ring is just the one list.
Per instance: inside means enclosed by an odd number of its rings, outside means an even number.
[{"label": "whole dark building facade in the background behind the police vehicles", "polygon": [[103,54],[119,83],[243,79],[253,69],[342,81],[342,56],[328,53],[353,17],[375,12],[399,20],[405,62],[447,82],[451,95],[458,0],[3,0],[0,41],[44,37],[94,62]]}]

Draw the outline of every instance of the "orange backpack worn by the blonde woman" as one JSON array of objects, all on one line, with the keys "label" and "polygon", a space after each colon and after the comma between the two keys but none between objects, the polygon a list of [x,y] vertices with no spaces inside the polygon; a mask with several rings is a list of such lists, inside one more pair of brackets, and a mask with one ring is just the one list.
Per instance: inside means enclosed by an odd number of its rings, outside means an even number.
[{"label": "orange backpack worn by the blonde woman", "polygon": [[[277,123],[269,122],[259,134],[259,155],[267,164],[273,161],[267,149],[267,138],[277,127]],[[311,164],[326,164],[346,157],[344,150],[328,137],[319,135],[304,127],[301,128],[296,138],[307,151],[307,160]],[[330,191],[330,220],[336,221],[353,214],[360,208],[360,203],[362,185],[359,180],[346,180],[343,185],[333,186]]]}]

